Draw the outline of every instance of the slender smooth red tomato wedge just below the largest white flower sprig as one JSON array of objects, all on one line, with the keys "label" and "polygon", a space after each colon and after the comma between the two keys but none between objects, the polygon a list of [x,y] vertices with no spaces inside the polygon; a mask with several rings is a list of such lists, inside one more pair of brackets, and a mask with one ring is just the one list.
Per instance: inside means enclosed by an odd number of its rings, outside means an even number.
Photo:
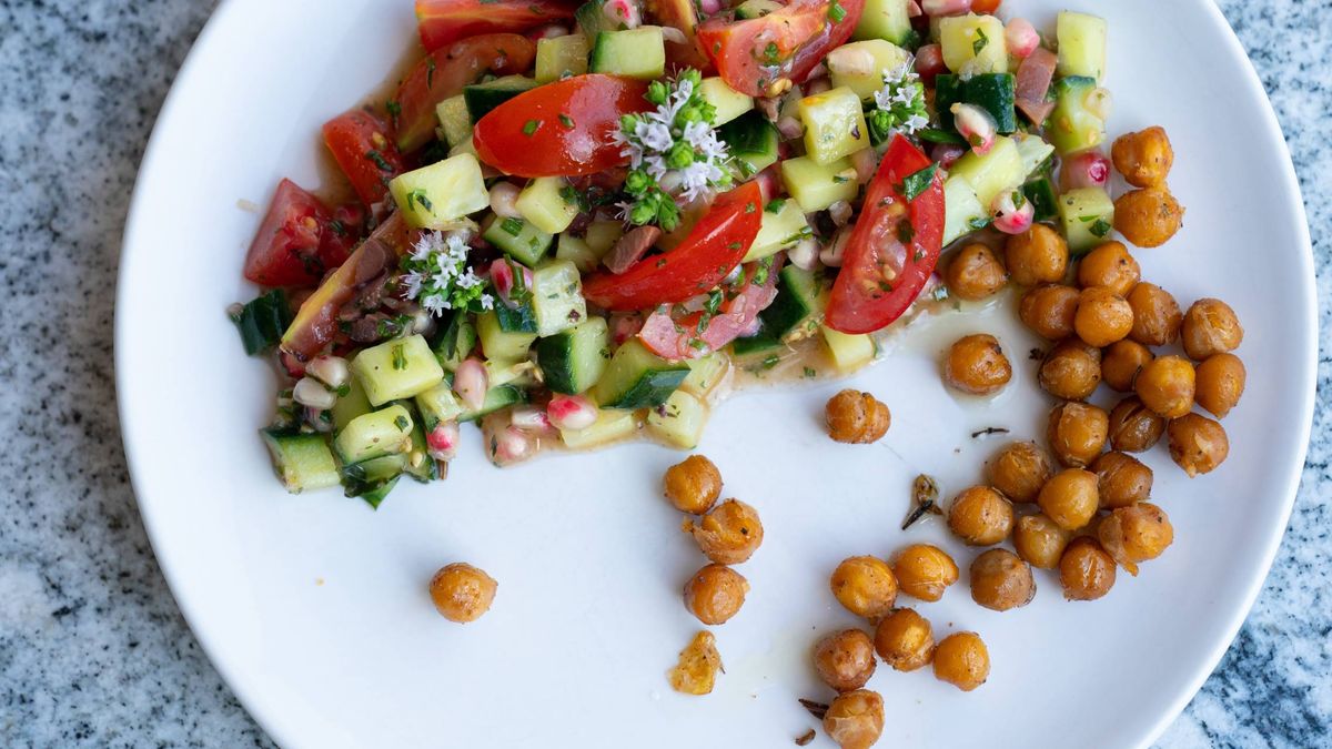
[{"label": "slender smooth red tomato wedge just below the largest white flower sprig", "polygon": [[762,220],[757,183],[718,196],[678,247],[645,257],[621,275],[583,280],[587,301],[610,311],[651,309],[703,293],[726,277],[749,252]]}]

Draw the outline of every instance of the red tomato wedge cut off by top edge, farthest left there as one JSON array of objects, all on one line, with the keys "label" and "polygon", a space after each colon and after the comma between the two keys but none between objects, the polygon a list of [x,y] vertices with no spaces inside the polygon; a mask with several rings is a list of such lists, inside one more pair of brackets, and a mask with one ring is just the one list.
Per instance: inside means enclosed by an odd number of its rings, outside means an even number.
[{"label": "red tomato wedge cut off by top edge, farthest left there", "polygon": [[417,31],[425,51],[434,52],[469,36],[567,21],[575,8],[561,0],[417,0]]}]

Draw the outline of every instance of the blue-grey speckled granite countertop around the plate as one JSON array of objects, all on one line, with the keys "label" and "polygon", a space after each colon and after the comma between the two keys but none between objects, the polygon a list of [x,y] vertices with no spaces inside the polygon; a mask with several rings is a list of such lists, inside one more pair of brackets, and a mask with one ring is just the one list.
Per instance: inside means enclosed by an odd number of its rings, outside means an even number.
[{"label": "blue-grey speckled granite countertop around the plate", "polygon": [[[120,236],[213,0],[0,4],[0,745],[270,746],[176,609],[120,446]],[[1295,157],[1319,267],[1313,442],[1276,565],[1160,746],[1332,745],[1329,0],[1221,0]],[[59,220],[57,220],[59,216]]]}]

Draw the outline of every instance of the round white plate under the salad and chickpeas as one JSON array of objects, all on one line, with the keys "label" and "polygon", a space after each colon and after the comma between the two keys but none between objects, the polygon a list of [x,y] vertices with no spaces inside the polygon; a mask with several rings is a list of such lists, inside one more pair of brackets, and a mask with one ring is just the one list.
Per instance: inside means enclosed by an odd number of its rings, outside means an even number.
[{"label": "round white plate under the salad and chickpeas", "polygon": [[[1054,0],[1012,0],[1052,24]],[[1076,5],[1076,4],[1075,4]],[[1067,604],[1038,576],[1032,605],[980,609],[966,581],[919,610],[936,633],[974,629],[994,672],[963,694],[930,673],[880,668],[883,746],[1136,746],[1180,710],[1244,618],[1285,526],[1313,394],[1313,267],[1291,161],[1257,77],[1205,0],[1082,3],[1110,17],[1112,132],[1168,128],[1171,187],[1188,221],[1138,253],[1183,304],[1228,300],[1248,336],[1248,390],[1225,420],[1231,457],[1188,481],[1150,454],[1175,545],[1094,604]],[[224,309],[258,216],[290,176],[318,183],[318,125],[376,89],[414,43],[408,0],[229,0],[163,108],[125,233],[116,364],[125,446],[170,588],[209,657],[285,746],[787,746],[826,698],[815,638],[855,624],[827,592],[851,554],[908,541],[974,557],[938,522],[899,532],[920,472],[948,496],[980,478],[1002,425],[1036,436],[1046,401],[1011,312],[908,331],[852,384],[892,408],[875,446],[827,440],[819,414],[839,384],[745,394],[721,408],[701,450],[727,494],[757,505],[763,548],[742,568],[753,593],[717,629],[726,674],[706,698],[665,673],[698,629],[679,588],[701,557],[658,498],[679,460],[621,446],[497,470],[476,432],[444,484],[401,485],[378,510],[336,490],[288,496],[256,436],[273,378],[241,355]],[[948,333],[991,331],[1018,378],[995,404],[939,384]],[[494,608],[452,625],[425,593],[466,560],[500,581]],[[829,746],[826,738],[819,745]]]}]

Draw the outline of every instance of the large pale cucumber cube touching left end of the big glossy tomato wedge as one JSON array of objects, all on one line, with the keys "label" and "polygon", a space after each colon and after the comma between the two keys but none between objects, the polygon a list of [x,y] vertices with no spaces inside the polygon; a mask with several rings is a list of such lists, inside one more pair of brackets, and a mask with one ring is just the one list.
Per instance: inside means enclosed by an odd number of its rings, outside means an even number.
[{"label": "large pale cucumber cube touching left end of the big glossy tomato wedge", "polygon": [[[465,143],[470,144],[472,139]],[[453,221],[490,207],[481,164],[470,153],[398,175],[389,183],[389,192],[402,219],[417,229],[445,229]]]}]

